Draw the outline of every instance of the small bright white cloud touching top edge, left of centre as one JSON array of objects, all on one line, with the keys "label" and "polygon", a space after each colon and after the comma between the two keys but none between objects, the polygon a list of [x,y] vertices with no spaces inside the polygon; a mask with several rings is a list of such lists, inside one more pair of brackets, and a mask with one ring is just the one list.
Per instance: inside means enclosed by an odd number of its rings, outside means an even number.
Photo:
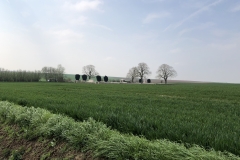
[{"label": "small bright white cloud touching top edge, left of centre", "polygon": [[97,10],[98,6],[101,3],[102,3],[102,1],[100,1],[100,0],[82,0],[75,4],[66,2],[64,4],[64,8],[79,11],[79,12],[84,12],[84,11],[88,11],[88,10]]}]

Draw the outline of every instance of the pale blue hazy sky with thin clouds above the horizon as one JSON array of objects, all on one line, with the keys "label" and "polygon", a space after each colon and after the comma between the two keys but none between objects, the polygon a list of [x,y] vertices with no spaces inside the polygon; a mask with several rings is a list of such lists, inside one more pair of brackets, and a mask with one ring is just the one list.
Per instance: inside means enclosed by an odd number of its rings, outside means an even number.
[{"label": "pale blue hazy sky with thin clouds above the horizon", "polygon": [[0,68],[125,77],[146,63],[174,80],[240,83],[239,0],[1,0]]}]

